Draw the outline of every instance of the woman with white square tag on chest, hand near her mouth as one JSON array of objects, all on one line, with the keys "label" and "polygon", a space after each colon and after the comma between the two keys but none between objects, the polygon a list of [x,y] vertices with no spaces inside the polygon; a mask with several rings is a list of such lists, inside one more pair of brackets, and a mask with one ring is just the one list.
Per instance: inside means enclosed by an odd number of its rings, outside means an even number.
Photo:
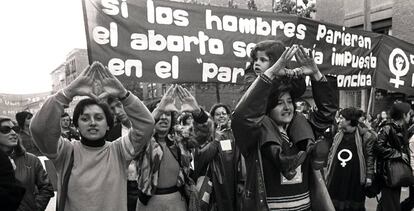
[{"label": "woman with white square tag on chest, hand near her mouth", "polygon": [[246,167],[234,141],[230,112],[224,104],[211,107],[210,117],[214,122],[211,139],[200,146],[194,156],[197,177],[207,174],[212,178],[213,192],[208,210],[241,209]]}]

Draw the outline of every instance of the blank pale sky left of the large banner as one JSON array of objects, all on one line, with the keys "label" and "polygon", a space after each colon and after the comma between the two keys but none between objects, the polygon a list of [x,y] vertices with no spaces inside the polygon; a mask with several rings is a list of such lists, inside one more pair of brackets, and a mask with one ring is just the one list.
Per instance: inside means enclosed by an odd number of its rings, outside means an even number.
[{"label": "blank pale sky left of the large banner", "polygon": [[0,93],[51,91],[50,73],[86,49],[81,0],[4,1],[0,20]]}]

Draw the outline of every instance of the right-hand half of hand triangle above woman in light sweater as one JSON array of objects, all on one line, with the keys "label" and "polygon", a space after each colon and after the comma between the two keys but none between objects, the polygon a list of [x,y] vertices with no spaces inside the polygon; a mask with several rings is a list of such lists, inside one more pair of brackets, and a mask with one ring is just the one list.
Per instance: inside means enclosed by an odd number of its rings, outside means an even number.
[{"label": "right-hand half of hand triangle above woman in light sweater", "polygon": [[[95,78],[98,79],[102,85],[102,92],[99,93],[99,99],[108,96],[122,98],[128,92],[122,83],[112,73],[103,66],[100,62],[94,62],[92,68],[95,71]],[[99,82],[95,81],[95,85]],[[95,86],[96,89],[96,86]]]}]

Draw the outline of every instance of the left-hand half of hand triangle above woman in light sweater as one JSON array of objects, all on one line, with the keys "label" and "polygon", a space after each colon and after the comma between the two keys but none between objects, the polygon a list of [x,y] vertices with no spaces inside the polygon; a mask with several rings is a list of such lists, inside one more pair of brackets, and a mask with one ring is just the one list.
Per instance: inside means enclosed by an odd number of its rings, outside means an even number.
[{"label": "left-hand half of hand triangle above woman in light sweater", "polygon": [[88,66],[75,80],[63,89],[63,93],[71,99],[75,96],[89,96],[97,99],[98,96],[92,88],[94,75],[95,71],[91,69],[91,66]]}]

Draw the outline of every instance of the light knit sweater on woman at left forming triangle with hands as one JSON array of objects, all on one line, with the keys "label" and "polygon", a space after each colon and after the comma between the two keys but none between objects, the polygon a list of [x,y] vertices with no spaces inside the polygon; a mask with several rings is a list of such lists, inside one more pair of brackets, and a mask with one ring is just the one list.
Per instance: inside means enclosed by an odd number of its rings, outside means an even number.
[{"label": "light knit sweater on woman at left forming triangle with hands", "polygon": [[58,198],[63,177],[74,152],[65,210],[127,210],[127,168],[150,140],[154,119],[133,94],[122,101],[131,121],[128,135],[102,147],[88,147],[61,137],[60,116],[71,99],[62,92],[48,98],[33,116],[30,130],[36,145],[55,165]]}]

